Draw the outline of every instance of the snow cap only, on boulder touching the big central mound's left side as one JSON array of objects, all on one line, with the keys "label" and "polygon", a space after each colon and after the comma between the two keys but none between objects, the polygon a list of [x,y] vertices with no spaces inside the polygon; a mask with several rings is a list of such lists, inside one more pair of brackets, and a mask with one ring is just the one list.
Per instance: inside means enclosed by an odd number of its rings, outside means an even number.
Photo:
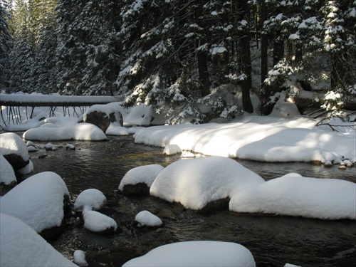
[{"label": "snow cap only, on boulder touching the big central mound's left side", "polygon": [[127,184],[145,183],[147,187],[151,187],[159,172],[162,172],[162,169],[164,169],[164,167],[159,164],[150,164],[130,169],[130,171],[122,177],[119,190],[123,191]]}]

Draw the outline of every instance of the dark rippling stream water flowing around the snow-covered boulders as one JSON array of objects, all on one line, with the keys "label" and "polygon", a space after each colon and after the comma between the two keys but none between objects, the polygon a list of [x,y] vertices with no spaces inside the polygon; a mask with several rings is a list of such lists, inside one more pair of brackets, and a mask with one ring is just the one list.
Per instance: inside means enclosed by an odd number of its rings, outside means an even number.
[{"label": "dark rippling stream water flowing around the snow-covered boulders", "polygon": [[[117,187],[125,173],[147,164],[168,164],[180,156],[165,157],[162,148],[137,145],[132,137],[110,137],[108,142],[52,142],[59,147],[46,152],[46,142],[36,142],[31,153],[35,173],[52,171],[67,184],[71,200],[85,189],[99,189],[108,199],[100,210],[117,222],[121,231],[113,235],[90,233],[80,214],[72,212],[66,230],[50,243],[68,258],[77,249],[85,251],[89,266],[122,266],[130,258],[152,248],[177,241],[231,241],[248,248],[257,266],[353,266],[356,262],[356,222],[326,221],[292,216],[236,214],[229,210],[199,214],[153,197],[125,197]],[[43,154],[47,157],[40,159]],[[344,171],[307,163],[263,163],[239,161],[264,179],[297,172],[306,177],[347,179],[356,182],[356,169]],[[142,210],[157,214],[164,226],[137,229],[132,224]]]}]

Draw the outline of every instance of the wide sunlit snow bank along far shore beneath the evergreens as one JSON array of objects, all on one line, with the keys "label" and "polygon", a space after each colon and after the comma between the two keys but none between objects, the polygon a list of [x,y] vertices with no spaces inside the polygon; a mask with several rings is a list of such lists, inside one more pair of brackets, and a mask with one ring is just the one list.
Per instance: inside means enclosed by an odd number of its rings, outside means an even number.
[{"label": "wide sunlit snow bank along far shore beneath the evergreens", "polygon": [[355,131],[342,134],[314,127],[313,120],[244,116],[235,122],[164,125],[141,129],[135,142],[165,147],[178,145],[204,155],[238,157],[261,162],[356,161]]}]

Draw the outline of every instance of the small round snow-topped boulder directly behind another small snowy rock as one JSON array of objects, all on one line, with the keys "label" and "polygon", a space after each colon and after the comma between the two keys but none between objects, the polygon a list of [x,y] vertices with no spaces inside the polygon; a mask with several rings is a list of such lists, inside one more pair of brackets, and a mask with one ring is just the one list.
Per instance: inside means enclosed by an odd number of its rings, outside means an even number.
[{"label": "small round snow-topped boulder directly behind another small snowy rock", "polygon": [[78,194],[77,199],[75,199],[73,208],[76,211],[83,210],[98,210],[101,209],[106,203],[106,197],[98,189],[86,189],[80,194]]}]

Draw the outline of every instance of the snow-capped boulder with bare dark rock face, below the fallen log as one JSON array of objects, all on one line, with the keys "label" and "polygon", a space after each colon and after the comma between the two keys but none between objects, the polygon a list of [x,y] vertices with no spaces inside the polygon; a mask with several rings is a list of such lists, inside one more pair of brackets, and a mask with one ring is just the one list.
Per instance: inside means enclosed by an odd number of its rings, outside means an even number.
[{"label": "snow-capped boulder with bare dark rock face, below the fallen log", "polygon": [[[122,114],[112,105],[93,105],[83,114],[83,122],[92,123],[106,132],[111,122],[123,125]],[[81,121],[80,121],[81,122]]]}]

